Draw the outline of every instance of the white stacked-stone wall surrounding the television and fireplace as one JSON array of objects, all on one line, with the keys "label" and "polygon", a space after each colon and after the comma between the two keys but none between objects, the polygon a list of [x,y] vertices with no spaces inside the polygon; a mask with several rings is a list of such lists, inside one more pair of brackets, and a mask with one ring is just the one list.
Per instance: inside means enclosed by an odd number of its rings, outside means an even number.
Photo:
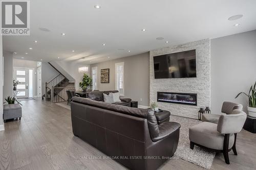
[{"label": "white stacked-stone wall surrounding the television and fireplace", "polygon": [[[154,79],[153,56],[196,49],[197,78]],[[157,92],[197,93],[197,106],[157,102]],[[210,106],[210,41],[203,39],[150,52],[150,103],[170,114],[197,118],[200,107]]]}]

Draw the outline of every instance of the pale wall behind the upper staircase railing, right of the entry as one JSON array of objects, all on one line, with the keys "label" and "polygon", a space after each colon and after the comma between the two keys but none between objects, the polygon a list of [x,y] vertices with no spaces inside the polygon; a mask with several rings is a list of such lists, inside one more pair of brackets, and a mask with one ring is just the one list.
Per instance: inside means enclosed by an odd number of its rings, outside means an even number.
[{"label": "pale wall behind the upper staircase railing, right of the entry", "polygon": [[46,82],[51,81],[53,78],[59,75],[59,72],[56,71],[49,63],[42,62],[41,65],[41,90],[42,94],[44,95],[46,92]]}]

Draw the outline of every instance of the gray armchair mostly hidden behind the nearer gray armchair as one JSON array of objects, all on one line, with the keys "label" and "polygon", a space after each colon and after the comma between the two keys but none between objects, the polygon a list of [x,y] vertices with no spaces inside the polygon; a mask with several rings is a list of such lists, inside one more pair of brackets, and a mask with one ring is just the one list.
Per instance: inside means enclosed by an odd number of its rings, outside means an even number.
[{"label": "gray armchair mostly hidden behind the nearer gray armchair", "polygon": [[242,110],[243,105],[232,102],[223,102],[221,114],[203,114],[202,121],[218,124],[219,118],[222,114],[231,114],[234,109]]}]

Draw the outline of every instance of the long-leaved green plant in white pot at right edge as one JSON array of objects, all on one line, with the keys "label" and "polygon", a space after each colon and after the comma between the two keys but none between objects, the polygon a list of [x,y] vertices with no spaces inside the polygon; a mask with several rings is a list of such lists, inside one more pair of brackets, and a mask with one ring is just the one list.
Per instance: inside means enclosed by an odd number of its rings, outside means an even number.
[{"label": "long-leaved green plant in white pot at right edge", "polygon": [[249,98],[249,106],[247,107],[248,115],[251,117],[256,117],[256,81],[254,85],[251,86],[248,94],[246,94],[245,92],[240,92],[238,93],[236,98],[242,93],[247,95]]}]

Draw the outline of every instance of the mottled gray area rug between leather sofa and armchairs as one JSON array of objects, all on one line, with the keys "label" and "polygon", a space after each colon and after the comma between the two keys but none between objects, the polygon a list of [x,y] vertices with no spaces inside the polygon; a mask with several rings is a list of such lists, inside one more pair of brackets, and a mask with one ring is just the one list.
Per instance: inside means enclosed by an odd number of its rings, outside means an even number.
[{"label": "mottled gray area rug between leather sofa and armchairs", "polygon": [[214,161],[215,152],[199,148],[196,145],[194,150],[191,150],[190,141],[188,138],[189,127],[199,124],[201,121],[170,115],[170,122],[178,122],[181,125],[179,144],[177,151],[174,154],[174,158],[180,158],[203,168],[209,169],[212,161]]}]

